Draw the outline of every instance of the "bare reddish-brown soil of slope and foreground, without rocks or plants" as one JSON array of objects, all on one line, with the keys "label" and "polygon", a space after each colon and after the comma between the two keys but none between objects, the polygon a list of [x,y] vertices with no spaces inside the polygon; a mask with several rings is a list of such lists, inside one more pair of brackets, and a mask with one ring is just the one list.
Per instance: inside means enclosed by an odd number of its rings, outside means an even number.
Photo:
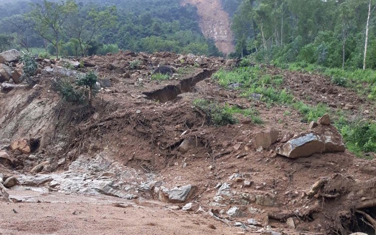
[{"label": "bare reddish-brown soil of slope and foreground, without rocks or plants", "polygon": [[[259,228],[269,226],[274,231],[286,234],[345,235],[362,230],[361,225],[359,229],[353,226],[357,218],[354,212],[355,209],[372,210],[376,206],[370,203],[360,208],[362,201],[374,197],[375,160],[359,159],[348,151],[289,159],[275,154],[275,148],[283,144],[279,142],[262,152],[255,151],[253,134],[256,132],[278,129],[280,140],[287,133],[307,131],[309,125],[300,121],[301,115],[292,107],[269,107],[261,101],[241,98],[240,91],[220,87],[210,75],[225,67],[223,59],[204,58],[197,66],[193,60],[185,58],[183,61],[178,57],[170,53],[146,55],[121,52],[84,58],[85,68],[81,69],[82,72],[96,69],[101,83],[106,83],[107,87],[100,91],[93,103],[95,109],[91,111],[84,112],[63,104],[58,106],[56,131],[70,133],[69,138],[65,139],[66,145],[55,151],[52,146],[56,140],[43,139],[38,151],[55,156],[56,161],[58,157],[66,156],[64,166],[54,166],[55,170],[62,171],[79,154],[93,156],[106,150],[113,159],[129,167],[157,174],[156,179],[166,182],[167,187],[196,185],[198,191],[192,200],[216,215],[222,208],[209,204],[217,193],[215,187],[218,183],[230,182],[231,190],[238,194],[275,197],[273,206],[252,204],[257,210],[255,214],[249,213],[250,205],[240,205],[244,207],[246,215],[236,219],[227,218],[232,222],[245,223],[247,219],[254,218],[260,222]],[[129,62],[135,59],[142,60],[144,65],[131,69]],[[177,79],[150,80],[149,76],[158,64],[189,69],[175,75]],[[349,111],[353,115],[368,109],[371,111],[368,117],[375,119],[371,103],[351,90],[335,86],[328,78],[274,67],[269,67],[268,71],[283,75],[283,86],[291,89],[297,100],[311,104],[324,102],[333,110],[341,109],[341,103],[351,102],[356,107]],[[53,78],[54,75],[39,75],[37,80],[42,89],[32,99],[58,101],[57,93],[50,86]],[[0,95],[0,107],[6,105],[4,100],[19,94],[30,95],[30,92],[15,89],[3,93]],[[209,126],[205,116],[192,107],[197,98],[222,105],[255,107],[264,123],[252,124],[246,117],[238,115],[238,124]],[[285,111],[291,114],[284,115]],[[186,153],[179,152],[177,147],[186,138],[194,138],[200,145]],[[27,173],[30,169],[19,167],[17,170],[18,173]],[[12,169],[8,168],[8,171]],[[244,179],[253,184],[243,187],[241,182],[229,180],[234,173],[241,173]],[[330,180],[321,189],[321,194],[308,197],[311,186],[322,178]],[[325,195],[337,196],[330,198]],[[156,199],[152,194],[141,196],[147,200]],[[232,222],[223,223],[207,214],[175,212],[160,205],[119,208],[108,203],[61,201],[63,199],[56,203],[2,202],[0,233],[259,234],[255,233],[256,230],[234,228]],[[236,203],[230,203],[228,208],[233,205]],[[15,214],[12,209],[19,213]],[[79,214],[73,215],[74,211]],[[294,218],[296,229],[288,228],[288,218]],[[363,226],[364,229],[366,227]]]}]

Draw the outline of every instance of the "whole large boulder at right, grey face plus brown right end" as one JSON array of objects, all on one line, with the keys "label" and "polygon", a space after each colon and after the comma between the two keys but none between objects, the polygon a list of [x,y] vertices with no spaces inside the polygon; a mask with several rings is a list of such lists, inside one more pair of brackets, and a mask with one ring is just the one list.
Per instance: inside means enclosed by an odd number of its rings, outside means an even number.
[{"label": "whole large boulder at right, grey face plus brown right end", "polygon": [[289,158],[309,157],[314,153],[345,151],[343,139],[333,126],[318,126],[314,131],[291,139],[276,152]]}]

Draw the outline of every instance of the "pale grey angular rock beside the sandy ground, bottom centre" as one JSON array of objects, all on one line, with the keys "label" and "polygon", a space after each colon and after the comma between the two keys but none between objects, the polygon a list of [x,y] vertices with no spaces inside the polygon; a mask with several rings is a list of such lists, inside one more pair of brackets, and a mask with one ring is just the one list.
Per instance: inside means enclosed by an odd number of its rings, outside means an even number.
[{"label": "pale grey angular rock beside the sandy ground, bottom centre", "polygon": [[183,203],[189,200],[197,190],[196,186],[186,185],[172,190],[161,187],[158,199],[162,202]]}]

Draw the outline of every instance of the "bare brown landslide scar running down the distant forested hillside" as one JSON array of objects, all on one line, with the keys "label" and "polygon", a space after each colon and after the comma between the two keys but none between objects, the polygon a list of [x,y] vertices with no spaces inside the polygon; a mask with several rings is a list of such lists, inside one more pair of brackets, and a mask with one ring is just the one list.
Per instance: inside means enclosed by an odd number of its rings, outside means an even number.
[{"label": "bare brown landslide scar running down the distant forested hillside", "polygon": [[197,7],[200,27],[205,37],[216,41],[219,51],[229,54],[234,51],[230,19],[222,9],[220,0],[183,0],[182,4],[192,4]]}]

